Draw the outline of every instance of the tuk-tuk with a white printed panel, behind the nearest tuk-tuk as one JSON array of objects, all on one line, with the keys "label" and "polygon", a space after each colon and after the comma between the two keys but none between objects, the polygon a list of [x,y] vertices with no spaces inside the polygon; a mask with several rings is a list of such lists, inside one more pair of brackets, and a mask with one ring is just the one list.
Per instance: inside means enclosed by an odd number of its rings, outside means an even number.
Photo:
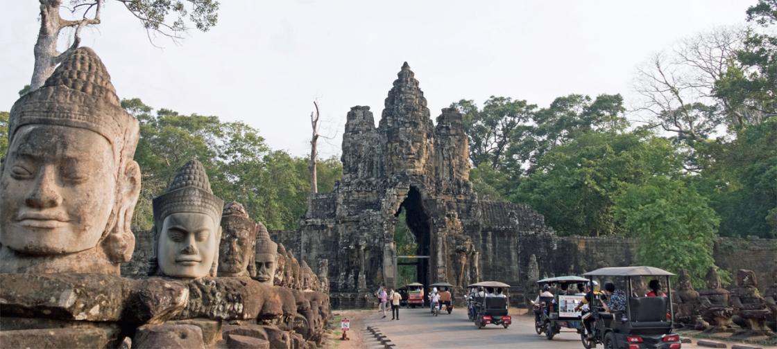
[{"label": "tuk-tuk with a white printed panel, behind the nearest tuk-tuk", "polygon": [[537,284],[542,292],[543,286],[549,285],[552,296],[538,295],[535,302],[535,331],[537,334],[545,333],[548,340],[561,332],[562,328],[570,328],[577,333],[583,333],[583,322],[580,319],[580,310],[577,305],[583,302],[584,294],[578,292],[577,284],[585,284],[587,278],[579,276],[559,276],[557,278],[543,278]]}]

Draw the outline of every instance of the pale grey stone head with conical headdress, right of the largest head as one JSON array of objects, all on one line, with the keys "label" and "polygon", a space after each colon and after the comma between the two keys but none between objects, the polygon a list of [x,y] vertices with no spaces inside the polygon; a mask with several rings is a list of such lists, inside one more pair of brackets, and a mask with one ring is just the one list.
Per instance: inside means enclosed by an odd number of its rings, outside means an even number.
[{"label": "pale grey stone head with conical headdress, right of the largest head", "polygon": [[224,201],[213,195],[200,161],[183,165],[153,206],[152,275],[216,276]]}]

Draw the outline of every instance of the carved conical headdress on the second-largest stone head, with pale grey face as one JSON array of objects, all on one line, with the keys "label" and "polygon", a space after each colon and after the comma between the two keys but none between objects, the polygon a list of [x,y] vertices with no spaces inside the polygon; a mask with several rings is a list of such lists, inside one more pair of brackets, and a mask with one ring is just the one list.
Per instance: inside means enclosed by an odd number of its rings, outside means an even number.
[{"label": "carved conical headdress on the second-largest stone head, with pale grey face", "polygon": [[224,200],[213,195],[211,182],[200,161],[192,160],[178,170],[167,192],[154,199],[154,220],[159,226],[170,213],[204,213],[221,220]]}]

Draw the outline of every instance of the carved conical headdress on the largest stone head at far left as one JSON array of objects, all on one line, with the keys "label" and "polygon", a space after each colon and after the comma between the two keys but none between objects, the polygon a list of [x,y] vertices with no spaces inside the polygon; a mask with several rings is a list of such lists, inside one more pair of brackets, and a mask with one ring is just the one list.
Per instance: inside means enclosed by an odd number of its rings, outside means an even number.
[{"label": "carved conical headdress on the largest stone head at far left", "polygon": [[99,133],[111,143],[117,161],[131,161],[138,145],[138,120],[121,108],[103,61],[89,47],[76,49],[43,87],[14,103],[9,116],[9,141],[20,127],[34,124]]}]

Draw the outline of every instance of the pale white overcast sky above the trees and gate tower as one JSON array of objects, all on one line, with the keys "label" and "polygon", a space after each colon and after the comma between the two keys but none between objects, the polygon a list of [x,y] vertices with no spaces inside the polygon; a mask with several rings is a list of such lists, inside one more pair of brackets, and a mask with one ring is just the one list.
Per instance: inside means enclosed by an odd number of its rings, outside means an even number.
[{"label": "pale white overcast sky above the trees and gate tower", "polygon": [[[433,119],[461,98],[482,104],[505,95],[541,106],[570,93],[628,98],[636,66],[651,54],[744,22],[754,2],[221,0],[210,32],[192,30],[180,46],[159,37],[160,49],[108,0],[103,24],[84,30],[82,46],[102,57],[120,98],[242,120],[270,147],[295,155],[309,151],[319,98],[323,133],[336,133],[321,144],[327,157],[340,154],[351,106],[370,105],[378,122],[405,60]],[[0,110],[30,81],[38,6],[3,6]]]}]

